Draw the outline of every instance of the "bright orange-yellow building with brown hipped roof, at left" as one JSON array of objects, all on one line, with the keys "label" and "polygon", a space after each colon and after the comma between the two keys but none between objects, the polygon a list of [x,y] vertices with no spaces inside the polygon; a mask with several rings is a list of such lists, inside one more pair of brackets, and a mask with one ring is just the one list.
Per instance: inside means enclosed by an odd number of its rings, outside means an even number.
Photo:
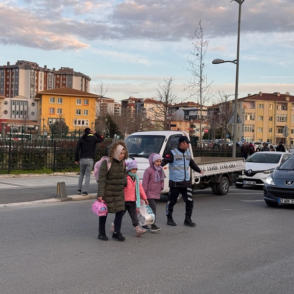
[{"label": "bright orange-yellow building with brown hipped roof, at left", "polygon": [[35,99],[39,100],[40,133],[49,132],[47,127],[58,120],[66,123],[69,132],[93,128],[98,97],[67,87],[38,92]]}]

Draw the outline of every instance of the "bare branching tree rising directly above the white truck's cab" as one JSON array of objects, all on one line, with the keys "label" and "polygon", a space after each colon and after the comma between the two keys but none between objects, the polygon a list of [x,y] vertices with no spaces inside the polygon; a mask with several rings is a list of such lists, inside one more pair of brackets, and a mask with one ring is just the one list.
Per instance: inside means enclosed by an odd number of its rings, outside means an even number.
[{"label": "bare branching tree rising directly above the white truck's cab", "polygon": [[156,123],[156,128],[168,130],[170,123],[168,122],[169,107],[177,102],[177,94],[173,93],[174,77],[165,78],[162,85],[158,84],[156,89],[156,100],[159,101],[157,107],[154,107],[153,119]]}]

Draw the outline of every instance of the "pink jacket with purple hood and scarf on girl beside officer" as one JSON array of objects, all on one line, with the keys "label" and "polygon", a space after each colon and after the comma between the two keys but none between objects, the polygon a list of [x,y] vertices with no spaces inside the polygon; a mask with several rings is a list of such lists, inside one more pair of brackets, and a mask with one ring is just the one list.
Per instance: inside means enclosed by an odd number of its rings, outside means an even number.
[{"label": "pink jacket with purple hood and scarf on girl beside officer", "polygon": [[[152,153],[153,155],[155,153]],[[155,179],[155,168],[152,162],[153,155],[149,156],[149,167],[145,170],[143,175],[143,189],[146,193],[147,199],[159,199],[161,191],[164,188],[164,180],[154,182]],[[152,155],[152,156],[151,156]]]}]

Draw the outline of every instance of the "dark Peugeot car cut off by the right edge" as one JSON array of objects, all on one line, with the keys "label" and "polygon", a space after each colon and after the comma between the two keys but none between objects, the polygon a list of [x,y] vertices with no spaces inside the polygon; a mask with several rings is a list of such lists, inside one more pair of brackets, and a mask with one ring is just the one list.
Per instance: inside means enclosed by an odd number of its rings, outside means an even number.
[{"label": "dark Peugeot car cut off by the right edge", "polygon": [[269,206],[279,203],[294,204],[294,156],[284,161],[264,185],[264,199]]}]

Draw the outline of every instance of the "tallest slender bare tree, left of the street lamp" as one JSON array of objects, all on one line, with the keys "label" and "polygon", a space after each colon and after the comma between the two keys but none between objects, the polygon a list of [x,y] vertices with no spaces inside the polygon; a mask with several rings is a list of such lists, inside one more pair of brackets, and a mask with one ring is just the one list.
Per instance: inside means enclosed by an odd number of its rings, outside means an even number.
[{"label": "tallest slender bare tree, left of the street lamp", "polygon": [[207,75],[204,74],[207,67],[207,64],[204,62],[204,56],[210,40],[204,39],[204,34],[200,19],[193,36],[193,49],[190,52],[192,57],[188,57],[190,65],[188,71],[192,74],[192,78],[185,85],[185,90],[189,91],[188,98],[196,98],[196,101],[200,104],[200,143],[202,141],[202,107],[212,97],[210,92],[212,81],[208,82]]}]

